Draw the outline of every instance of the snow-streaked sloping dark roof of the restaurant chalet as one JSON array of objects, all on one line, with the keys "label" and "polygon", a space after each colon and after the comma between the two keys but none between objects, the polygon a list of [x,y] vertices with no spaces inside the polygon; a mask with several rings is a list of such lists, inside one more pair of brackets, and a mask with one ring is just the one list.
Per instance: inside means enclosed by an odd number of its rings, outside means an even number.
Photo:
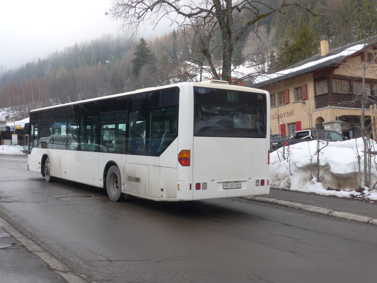
[{"label": "snow-streaked sloping dark roof of the restaurant chalet", "polygon": [[261,87],[271,83],[281,82],[282,80],[307,74],[328,66],[336,66],[346,60],[346,58],[359,53],[366,47],[375,45],[376,42],[377,35],[330,50],[325,56],[321,56],[321,54],[311,56],[290,66],[288,69],[273,74],[259,75],[254,79],[253,87]]}]

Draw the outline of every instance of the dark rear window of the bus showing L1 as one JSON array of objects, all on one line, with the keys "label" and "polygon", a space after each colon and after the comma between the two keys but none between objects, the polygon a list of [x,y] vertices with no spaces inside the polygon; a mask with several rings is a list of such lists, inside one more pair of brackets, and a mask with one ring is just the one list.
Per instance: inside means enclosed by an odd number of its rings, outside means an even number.
[{"label": "dark rear window of the bus showing L1", "polygon": [[265,138],[266,118],[265,94],[194,87],[194,136]]}]

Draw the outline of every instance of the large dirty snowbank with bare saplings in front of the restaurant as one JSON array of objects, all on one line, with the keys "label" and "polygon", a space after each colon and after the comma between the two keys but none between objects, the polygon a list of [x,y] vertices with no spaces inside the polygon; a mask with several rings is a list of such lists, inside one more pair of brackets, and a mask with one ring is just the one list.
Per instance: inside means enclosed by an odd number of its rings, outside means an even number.
[{"label": "large dirty snowbank with bare saplings in front of the restaurant", "polygon": [[[320,147],[325,144],[321,143]],[[356,192],[359,178],[358,155],[363,174],[363,140],[362,138],[329,142],[319,154],[320,180],[317,181],[317,141],[304,141],[270,154],[270,185],[273,188],[289,189],[292,191],[312,192],[321,195],[335,195],[337,197],[357,197],[366,200],[377,200],[377,191],[363,193]],[[377,150],[373,141],[372,150]],[[374,157],[372,158],[374,159]],[[372,160],[371,187],[377,182],[377,157]],[[363,186],[363,183],[362,183]]]}]

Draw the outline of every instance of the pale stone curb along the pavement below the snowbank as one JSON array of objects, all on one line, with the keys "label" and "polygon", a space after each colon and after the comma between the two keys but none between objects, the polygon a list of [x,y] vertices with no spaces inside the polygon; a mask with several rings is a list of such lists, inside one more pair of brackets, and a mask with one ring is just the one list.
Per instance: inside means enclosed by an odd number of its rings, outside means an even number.
[{"label": "pale stone curb along the pavement below the snowbank", "polygon": [[272,203],[274,205],[280,205],[280,206],[286,206],[289,208],[294,209],[301,209],[308,212],[314,212],[322,215],[328,215],[332,217],[336,217],[343,220],[350,220],[350,221],[356,221],[360,223],[368,223],[372,225],[377,225],[377,218],[352,214],[348,212],[342,212],[342,211],[335,211],[332,209],[322,208],[318,206],[311,206],[311,205],[303,205],[302,203],[296,203],[292,201],[287,200],[277,200],[275,198],[267,198],[267,197],[243,197],[249,200],[256,200],[261,201],[265,203]]}]

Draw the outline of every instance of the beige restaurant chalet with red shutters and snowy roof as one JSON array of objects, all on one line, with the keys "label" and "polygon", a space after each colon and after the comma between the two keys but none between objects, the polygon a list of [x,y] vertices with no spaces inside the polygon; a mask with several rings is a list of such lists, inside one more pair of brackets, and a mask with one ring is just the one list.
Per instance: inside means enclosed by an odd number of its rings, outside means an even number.
[{"label": "beige restaurant chalet with red shutters and snowy roof", "polygon": [[363,97],[366,123],[371,123],[369,106],[377,102],[377,35],[333,50],[322,36],[320,51],[289,69],[256,78],[253,87],[271,95],[271,134],[331,129],[360,137]]}]

